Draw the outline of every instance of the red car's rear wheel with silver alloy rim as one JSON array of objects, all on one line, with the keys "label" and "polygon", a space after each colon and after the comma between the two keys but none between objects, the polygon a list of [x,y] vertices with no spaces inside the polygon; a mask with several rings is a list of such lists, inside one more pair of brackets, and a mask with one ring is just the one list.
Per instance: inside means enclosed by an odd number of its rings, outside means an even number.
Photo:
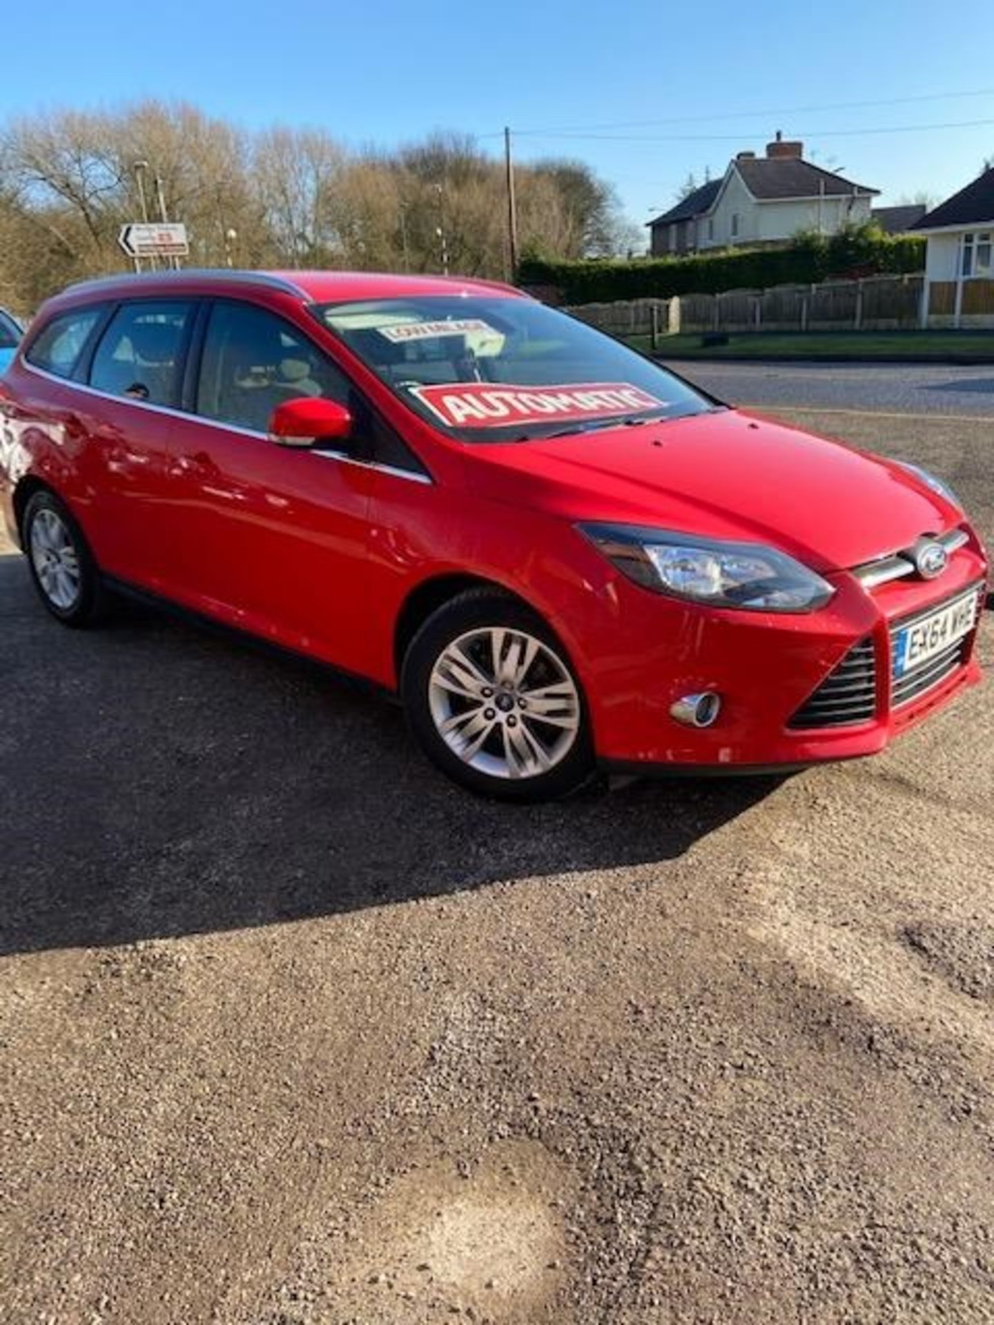
[{"label": "red car's rear wheel with silver alloy rim", "polygon": [[34,587],[64,625],[90,625],[101,613],[99,570],[82,530],[54,493],[40,490],[21,521]]}]

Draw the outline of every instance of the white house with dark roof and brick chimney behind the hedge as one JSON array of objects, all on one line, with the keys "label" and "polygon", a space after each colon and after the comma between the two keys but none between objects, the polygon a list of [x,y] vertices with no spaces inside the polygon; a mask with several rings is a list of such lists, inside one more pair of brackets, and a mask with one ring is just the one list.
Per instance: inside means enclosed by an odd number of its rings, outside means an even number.
[{"label": "white house with dark roof and brick chimney behind the hedge", "polygon": [[653,257],[785,244],[799,231],[835,235],[868,221],[879,189],[812,166],[803,151],[803,143],[777,134],[765,156],[740,152],[721,179],[648,223]]}]

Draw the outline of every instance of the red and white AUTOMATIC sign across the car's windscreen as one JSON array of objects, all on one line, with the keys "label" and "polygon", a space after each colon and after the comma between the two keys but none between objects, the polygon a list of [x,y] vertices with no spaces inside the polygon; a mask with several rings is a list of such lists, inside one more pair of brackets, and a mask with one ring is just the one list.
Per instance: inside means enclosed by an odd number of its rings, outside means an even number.
[{"label": "red and white AUTOMATIC sign across the car's windscreen", "polygon": [[665,400],[628,382],[567,382],[555,387],[453,382],[412,387],[411,395],[449,428],[500,428],[514,423],[570,423],[660,409]]}]

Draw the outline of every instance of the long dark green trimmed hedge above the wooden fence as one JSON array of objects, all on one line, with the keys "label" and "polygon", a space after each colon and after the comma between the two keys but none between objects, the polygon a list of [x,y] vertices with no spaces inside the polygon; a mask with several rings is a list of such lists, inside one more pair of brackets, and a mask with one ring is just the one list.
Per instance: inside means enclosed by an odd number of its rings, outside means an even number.
[{"label": "long dark green trimmed hedge above the wooden fence", "polygon": [[557,262],[530,256],[518,268],[518,284],[551,286],[565,303],[608,303],[671,294],[762,290],[771,285],[921,272],[924,268],[924,238],[885,235],[873,225],[864,225],[830,238],[798,236],[787,248],[725,249],[692,257]]}]

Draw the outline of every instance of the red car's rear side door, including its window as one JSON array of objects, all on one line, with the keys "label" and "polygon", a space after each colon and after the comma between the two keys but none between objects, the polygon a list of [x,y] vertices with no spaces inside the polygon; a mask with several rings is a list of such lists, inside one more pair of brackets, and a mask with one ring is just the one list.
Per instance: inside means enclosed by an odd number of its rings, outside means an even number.
[{"label": "red car's rear side door, including its window", "polygon": [[167,466],[195,311],[190,298],[121,303],[74,403],[89,437],[97,560],[155,592],[168,592],[174,575]]}]

